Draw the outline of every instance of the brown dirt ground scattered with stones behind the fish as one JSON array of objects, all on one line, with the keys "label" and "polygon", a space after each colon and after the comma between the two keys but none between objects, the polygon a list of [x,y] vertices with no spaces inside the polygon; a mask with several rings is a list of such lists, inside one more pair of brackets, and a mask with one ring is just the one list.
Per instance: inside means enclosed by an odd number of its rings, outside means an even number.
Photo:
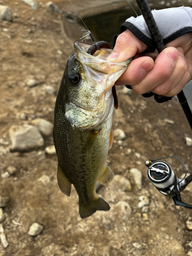
[{"label": "brown dirt ground scattered with stones behind the fish", "polygon": [[[82,220],[76,191],[70,198],[61,193],[51,135],[54,103],[73,42],[82,33],[66,14],[67,2],[55,2],[57,13],[44,6],[47,1],[37,2],[32,10],[19,0],[0,1],[13,13],[13,22],[0,22],[0,255],[192,255],[191,210],[161,195],[144,165],[174,155],[192,170],[185,140],[191,130],[175,99],[158,104],[118,87],[113,127],[126,137],[115,137],[108,163],[116,177],[98,191],[111,210]],[[84,13],[93,5],[74,2]],[[26,136],[33,139],[25,143]],[[168,162],[181,177],[181,164]],[[182,194],[189,204],[191,189]]]}]

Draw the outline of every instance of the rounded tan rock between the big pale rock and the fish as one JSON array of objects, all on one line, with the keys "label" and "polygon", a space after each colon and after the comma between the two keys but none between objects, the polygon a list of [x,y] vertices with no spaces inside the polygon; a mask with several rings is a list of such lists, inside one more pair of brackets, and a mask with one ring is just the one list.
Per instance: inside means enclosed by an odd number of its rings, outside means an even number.
[{"label": "rounded tan rock between the big pale rock and the fish", "polygon": [[52,122],[46,120],[37,118],[32,121],[32,124],[38,127],[38,130],[41,132],[44,136],[51,136],[53,134],[53,124]]}]

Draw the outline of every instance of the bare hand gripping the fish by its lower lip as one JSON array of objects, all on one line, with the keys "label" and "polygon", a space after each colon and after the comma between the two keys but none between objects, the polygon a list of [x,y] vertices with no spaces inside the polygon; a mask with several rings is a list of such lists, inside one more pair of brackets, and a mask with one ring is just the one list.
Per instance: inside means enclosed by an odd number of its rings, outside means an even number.
[{"label": "bare hand gripping the fish by its lower lip", "polygon": [[117,37],[111,55],[113,62],[134,57],[116,85],[129,84],[138,94],[153,92],[172,97],[177,95],[192,77],[192,33],[169,42],[160,54],[140,54],[147,46],[129,30]]}]

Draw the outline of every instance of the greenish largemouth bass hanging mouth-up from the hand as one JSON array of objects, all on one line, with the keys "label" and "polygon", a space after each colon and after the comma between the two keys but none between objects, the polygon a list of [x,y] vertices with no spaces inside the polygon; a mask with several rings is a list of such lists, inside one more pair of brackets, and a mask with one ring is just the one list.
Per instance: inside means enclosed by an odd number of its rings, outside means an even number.
[{"label": "greenish largemouth bass hanging mouth-up from the hand", "polygon": [[100,49],[90,55],[89,48],[74,43],[55,102],[53,129],[58,186],[70,196],[73,184],[82,219],[96,210],[110,209],[96,194],[96,183],[106,185],[114,178],[106,164],[113,143],[112,87],[132,61],[106,61],[111,49]]}]

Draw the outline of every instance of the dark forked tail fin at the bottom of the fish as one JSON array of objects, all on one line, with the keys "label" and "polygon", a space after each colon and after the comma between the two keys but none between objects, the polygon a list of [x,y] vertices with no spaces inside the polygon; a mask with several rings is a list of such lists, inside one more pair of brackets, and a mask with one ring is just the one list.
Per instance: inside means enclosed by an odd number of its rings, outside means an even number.
[{"label": "dark forked tail fin at the bottom of the fish", "polygon": [[100,197],[98,197],[98,200],[96,202],[88,205],[83,205],[79,202],[79,214],[82,219],[91,216],[96,210],[108,211],[110,210],[110,206]]}]

